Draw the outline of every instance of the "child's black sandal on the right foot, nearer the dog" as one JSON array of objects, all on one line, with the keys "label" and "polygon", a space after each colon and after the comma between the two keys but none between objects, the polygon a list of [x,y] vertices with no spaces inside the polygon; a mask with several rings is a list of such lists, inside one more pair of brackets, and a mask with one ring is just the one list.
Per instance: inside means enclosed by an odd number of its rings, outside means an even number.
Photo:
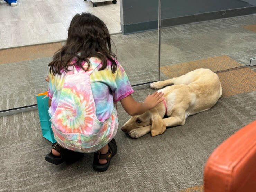
[{"label": "child's black sandal on the right foot, nearer the dog", "polygon": [[[108,143],[108,153],[106,154],[100,154],[100,152],[94,152],[94,157],[93,157],[93,164],[92,167],[96,171],[106,171],[110,165],[110,160],[113,156],[115,156],[117,153],[117,145],[115,139],[112,139]],[[100,164],[99,160],[100,159],[106,159],[107,163],[105,164]]]}]

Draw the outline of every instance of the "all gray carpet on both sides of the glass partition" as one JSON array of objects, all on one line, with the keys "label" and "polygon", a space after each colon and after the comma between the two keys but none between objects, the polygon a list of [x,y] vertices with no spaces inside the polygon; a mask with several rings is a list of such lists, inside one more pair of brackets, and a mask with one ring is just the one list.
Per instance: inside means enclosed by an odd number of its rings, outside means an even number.
[{"label": "all gray carpet on both sides of the glass partition", "polygon": [[[256,16],[162,30],[161,65],[227,55],[242,65],[256,57],[256,33],[244,29]],[[131,84],[157,80],[157,31],[112,36]],[[0,110],[36,104],[47,91],[51,58],[1,64]],[[252,67],[255,71],[256,67]],[[162,80],[166,77],[162,75]],[[143,101],[150,88],[133,93]],[[132,139],[120,127],[129,115],[118,103],[118,153],[103,173],[92,169],[93,154],[53,165],[44,160],[51,143],[42,137],[38,111],[0,117],[0,191],[178,191],[203,183],[204,164],[222,141],[256,117],[256,91],[221,98],[208,111],[164,134]]]}]

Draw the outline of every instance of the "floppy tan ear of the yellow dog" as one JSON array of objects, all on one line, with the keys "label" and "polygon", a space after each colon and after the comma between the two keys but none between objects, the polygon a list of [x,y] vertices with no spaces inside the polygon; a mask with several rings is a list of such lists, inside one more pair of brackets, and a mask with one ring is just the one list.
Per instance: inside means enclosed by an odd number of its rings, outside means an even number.
[{"label": "floppy tan ear of the yellow dog", "polygon": [[165,122],[163,120],[163,118],[159,115],[157,109],[151,109],[151,136],[154,137],[156,135],[160,135],[162,134],[165,129],[166,129],[166,125]]}]

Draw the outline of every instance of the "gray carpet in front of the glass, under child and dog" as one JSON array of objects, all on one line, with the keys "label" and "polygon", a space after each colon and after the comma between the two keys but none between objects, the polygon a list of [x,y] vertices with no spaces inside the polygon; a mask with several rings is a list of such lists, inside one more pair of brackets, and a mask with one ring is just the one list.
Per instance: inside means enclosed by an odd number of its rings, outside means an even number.
[{"label": "gray carpet in front of the glass, under child and dog", "polygon": [[[150,88],[133,93],[143,101]],[[1,191],[178,191],[203,183],[204,164],[222,141],[255,120],[256,91],[221,98],[164,134],[132,139],[120,127],[129,115],[118,103],[118,152],[106,172],[92,169],[93,154],[53,165],[37,111],[0,117]]]}]

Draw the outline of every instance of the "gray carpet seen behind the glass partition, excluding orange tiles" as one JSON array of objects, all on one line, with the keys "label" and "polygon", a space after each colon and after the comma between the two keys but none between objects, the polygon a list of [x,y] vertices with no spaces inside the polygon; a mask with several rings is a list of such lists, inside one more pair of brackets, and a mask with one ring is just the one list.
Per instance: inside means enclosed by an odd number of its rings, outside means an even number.
[{"label": "gray carpet seen behind the glass partition, excluding orange tiles", "polygon": [[[256,57],[256,33],[243,28],[256,24],[256,15],[161,30],[161,66],[227,55],[242,65]],[[158,80],[158,32],[112,35],[118,61],[132,85]],[[44,81],[52,58],[0,65],[0,110],[36,104],[47,90]],[[161,79],[166,77],[161,74]]]}]

